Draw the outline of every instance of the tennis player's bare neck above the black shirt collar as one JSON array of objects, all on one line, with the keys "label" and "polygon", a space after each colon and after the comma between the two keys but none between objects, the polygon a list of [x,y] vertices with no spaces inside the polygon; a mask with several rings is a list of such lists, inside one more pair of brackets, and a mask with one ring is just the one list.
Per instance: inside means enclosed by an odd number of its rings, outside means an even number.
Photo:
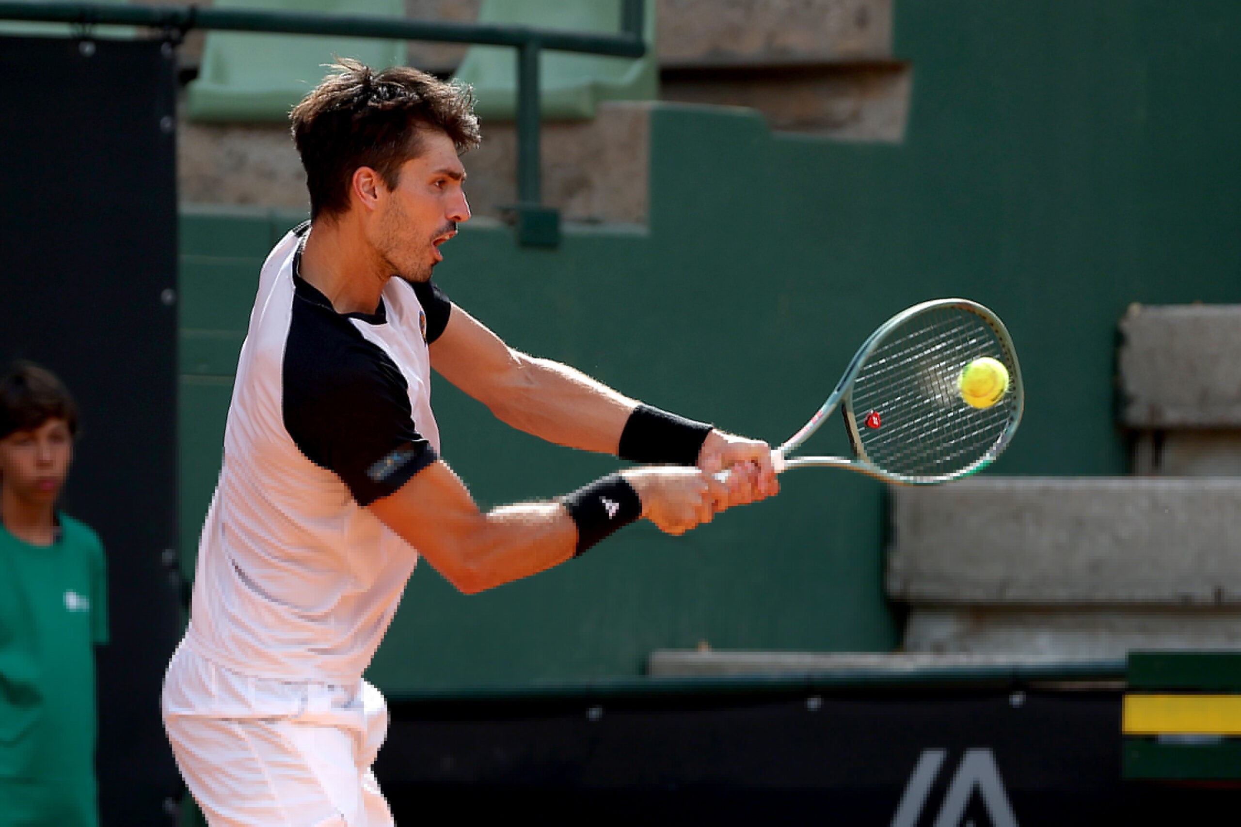
[{"label": "tennis player's bare neck above the black shirt collar", "polygon": [[336,312],[375,312],[387,278],[371,262],[359,228],[347,222],[315,222],[302,250],[302,278]]}]

